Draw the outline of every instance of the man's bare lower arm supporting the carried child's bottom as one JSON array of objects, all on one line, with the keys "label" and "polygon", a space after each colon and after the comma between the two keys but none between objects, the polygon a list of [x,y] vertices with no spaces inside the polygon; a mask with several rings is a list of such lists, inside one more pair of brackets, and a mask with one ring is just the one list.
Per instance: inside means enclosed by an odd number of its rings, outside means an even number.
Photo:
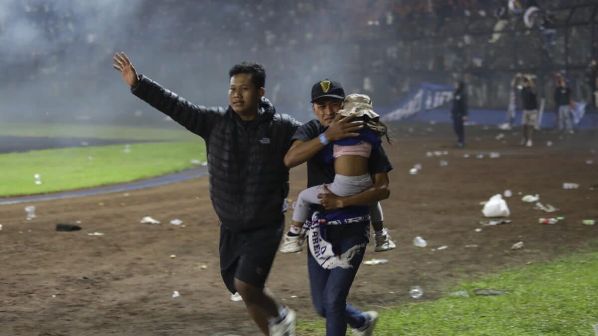
[{"label": "man's bare lower arm supporting the carried child's bottom", "polygon": [[377,173],[374,175],[374,185],[359,194],[346,197],[338,197],[328,191],[324,186],[326,193],[319,194],[322,206],[327,210],[340,209],[346,206],[363,206],[386,200],[390,196],[388,173]]}]

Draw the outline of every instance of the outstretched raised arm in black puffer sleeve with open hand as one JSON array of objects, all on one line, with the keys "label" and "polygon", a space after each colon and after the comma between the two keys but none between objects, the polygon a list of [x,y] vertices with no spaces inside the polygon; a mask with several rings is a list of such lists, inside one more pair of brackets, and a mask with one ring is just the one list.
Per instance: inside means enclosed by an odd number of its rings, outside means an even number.
[{"label": "outstretched raised arm in black puffer sleeve with open hand", "polygon": [[209,134],[215,118],[224,114],[224,109],[194,105],[144,75],[138,75],[124,53],[115,54],[112,60],[115,63],[112,67],[120,72],[135,96],[203,138]]}]

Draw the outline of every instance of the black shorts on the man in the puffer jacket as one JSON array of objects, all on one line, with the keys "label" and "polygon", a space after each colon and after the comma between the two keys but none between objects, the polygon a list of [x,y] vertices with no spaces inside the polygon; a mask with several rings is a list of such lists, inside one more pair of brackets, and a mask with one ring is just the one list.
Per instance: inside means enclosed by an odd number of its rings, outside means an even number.
[{"label": "black shorts on the man in the puffer jacket", "polygon": [[285,220],[251,231],[233,232],[220,227],[220,273],[228,291],[235,293],[234,279],[264,288]]}]

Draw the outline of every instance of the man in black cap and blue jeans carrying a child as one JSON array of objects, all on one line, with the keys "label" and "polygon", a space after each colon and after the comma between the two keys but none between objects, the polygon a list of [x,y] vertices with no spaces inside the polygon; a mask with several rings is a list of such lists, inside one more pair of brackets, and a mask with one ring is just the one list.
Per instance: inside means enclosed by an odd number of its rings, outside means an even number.
[{"label": "man in black cap and blue jeans carrying a child", "polygon": [[[337,81],[319,81],[312,87],[312,108],[318,117],[300,126],[292,137],[292,145],[286,153],[284,162],[287,167],[295,167],[307,161],[307,187],[329,184],[334,180],[334,167],[325,163],[321,155],[316,155],[329,142],[358,136],[356,133],[363,127],[361,121],[352,121],[352,117],[341,120],[340,114],[344,99],[344,90]],[[343,211],[365,212],[368,204],[388,198],[388,172],[392,169],[388,157],[382,147],[373,149],[370,156],[370,172],[374,176],[374,185],[367,191],[347,197],[334,194],[321,194],[322,206],[325,210],[343,208]],[[337,212],[338,213],[338,212]],[[355,222],[346,225],[327,225],[323,235],[331,243],[335,253],[341,254],[351,246],[368,242],[370,222]],[[387,235],[388,236],[388,235]],[[326,318],[326,329],[329,335],[344,335],[347,324],[355,335],[371,335],[376,325],[377,313],[366,311],[361,313],[346,303],[349,289],[361,264],[365,247],[354,256],[350,264],[352,268],[322,268],[311,253],[307,253],[312,301],[318,314]]]}]

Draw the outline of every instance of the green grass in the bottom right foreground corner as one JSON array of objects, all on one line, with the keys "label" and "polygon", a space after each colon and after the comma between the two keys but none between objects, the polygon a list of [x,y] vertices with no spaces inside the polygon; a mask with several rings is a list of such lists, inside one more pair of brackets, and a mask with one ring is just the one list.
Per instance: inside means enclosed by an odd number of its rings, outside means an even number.
[{"label": "green grass in the bottom right foreground corner", "polygon": [[[480,296],[474,289],[507,294]],[[592,325],[598,324],[598,253],[578,253],[514,268],[481,281],[465,282],[453,291],[467,291],[471,297],[448,296],[379,311],[374,333],[593,335]],[[323,319],[299,322],[297,334],[325,335]]]}]

